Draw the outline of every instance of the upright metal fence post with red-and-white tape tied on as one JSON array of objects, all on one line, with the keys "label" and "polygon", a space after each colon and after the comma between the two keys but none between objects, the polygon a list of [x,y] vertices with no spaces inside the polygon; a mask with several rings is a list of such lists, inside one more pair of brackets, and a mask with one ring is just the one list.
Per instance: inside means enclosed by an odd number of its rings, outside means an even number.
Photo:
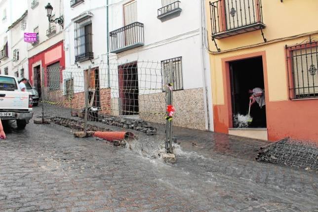
[{"label": "upright metal fence post with red-and-white tape tied on", "polygon": [[[169,62],[168,70],[164,70],[167,75],[167,85],[173,84],[173,64]],[[167,89],[167,105],[172,105],[172,90]],[[167,112],[167,116],[168,116]],[[165,140],[165,150],[167,153],[173,153],[172,149],[172,120],[166,120],[166,140]]]}]

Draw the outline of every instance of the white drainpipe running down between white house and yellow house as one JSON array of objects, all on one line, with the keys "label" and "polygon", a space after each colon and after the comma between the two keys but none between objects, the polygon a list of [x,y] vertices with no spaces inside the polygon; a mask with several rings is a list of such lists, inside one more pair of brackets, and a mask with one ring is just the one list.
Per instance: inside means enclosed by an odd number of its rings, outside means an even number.
[{"label": "white drainpipe running down between white house and yellow house", "polygon": [[205,76],[205,63],[204,63],[204,36],[203,36],[203,15],[204,15],[204,3],[200,0],[199,10],[200,10],[200,39],[201,39],[201,63],[202,63],[202,84],[203,84],[203,99],[204,99],[204,110],[205,110],[205,130],[213,130],[211,127],[211,120],[210,120],[210,110],[209,110],[209,98],[208,98],[208,88],[206,86],[206,76]]}]

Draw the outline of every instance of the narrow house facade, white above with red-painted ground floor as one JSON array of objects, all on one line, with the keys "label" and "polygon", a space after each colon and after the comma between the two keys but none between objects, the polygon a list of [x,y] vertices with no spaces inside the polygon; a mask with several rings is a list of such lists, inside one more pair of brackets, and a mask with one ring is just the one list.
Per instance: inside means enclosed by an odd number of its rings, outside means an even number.
[{"label": "narrow house facade, white above with red-painted ground floor", "polygon": [[42,74],[43,70],[52,68],[58,72],[55,73],[56,78],[48,79],[47,83],[54,87],[53,90],[60,90],[63,79],[59,73],[65,67],[63,26],[48,21],[45,9],[48,2],[53,7],[50,19],[63,17],[63,0],[28,0],[27,32],[37,33],[37,41],[28,43],[28,75],[31,85],[37,88],[40,95],[42,78],[48,78]]}]

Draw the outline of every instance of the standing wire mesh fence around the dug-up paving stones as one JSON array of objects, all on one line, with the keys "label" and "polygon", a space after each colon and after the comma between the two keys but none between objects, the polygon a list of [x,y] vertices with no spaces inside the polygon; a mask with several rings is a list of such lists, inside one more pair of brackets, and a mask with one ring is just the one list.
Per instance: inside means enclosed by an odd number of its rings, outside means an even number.
[{"label": "standing wire mesh fence around the dug-up paving stones", "polygon": [[172,73],[172,66],[162,70],[160,62],[47,67],[41,74],[42,118],[85,132],[129,131],[130,148],[156,156],[172,140],[166,136]]}]

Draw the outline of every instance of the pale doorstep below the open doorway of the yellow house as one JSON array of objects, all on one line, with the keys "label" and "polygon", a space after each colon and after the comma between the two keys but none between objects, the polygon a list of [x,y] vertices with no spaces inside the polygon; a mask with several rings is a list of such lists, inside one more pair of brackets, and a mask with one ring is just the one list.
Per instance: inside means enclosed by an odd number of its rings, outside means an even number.
[{"label": "pale doorstep below the open doorway of the yellow house", "polygon": [[229,135],[268,140],[267,128],[229,128]]}]

